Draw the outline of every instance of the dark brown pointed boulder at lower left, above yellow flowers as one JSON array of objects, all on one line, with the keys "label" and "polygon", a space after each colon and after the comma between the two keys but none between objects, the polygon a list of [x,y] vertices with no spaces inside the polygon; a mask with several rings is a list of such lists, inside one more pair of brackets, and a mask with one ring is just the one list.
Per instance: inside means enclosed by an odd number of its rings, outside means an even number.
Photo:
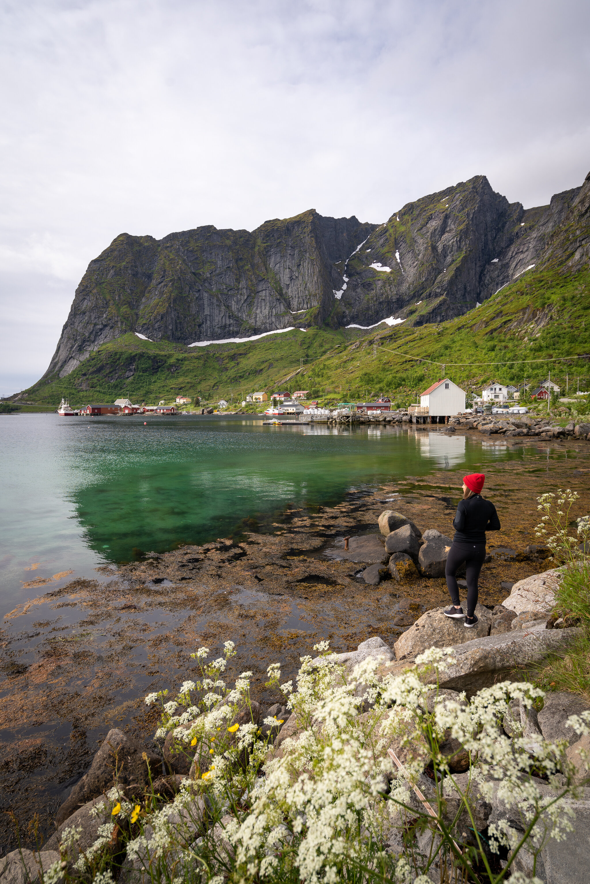
[{"label": "dark brown pointed boulder at lower left, above yellow flowers", "polygon": [[[127,736],[119,728],[112,728],[106,735],[103,745],[96,752],[88,773],[85,773],[73,787],[70,796],[56,814],[56,822],[61,823],[70,817],[81,804],[103,795],[117,784],[129,794],[141,794],[149,784],[148,765],[151,771],[160,772],[162,758],[147,752],[141,743]],[[117,773],[115,773],[117,771]]]}]

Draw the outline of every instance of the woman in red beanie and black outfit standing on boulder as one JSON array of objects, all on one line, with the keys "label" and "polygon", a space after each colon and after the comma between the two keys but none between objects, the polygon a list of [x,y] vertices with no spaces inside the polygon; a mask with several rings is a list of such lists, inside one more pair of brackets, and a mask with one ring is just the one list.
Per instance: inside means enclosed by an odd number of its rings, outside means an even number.
[{"label": "woman in red beanie and black outfit standing on boulder", "polygon": [[[478,604],[479,571],[486,558],[486,531],[500,530],[500,519],[494,504],[481,496],[485,478],[483,473],[464,476],[463,500],[459,500],[453,519],[455,537],[448,551],[445,568],[448,591],[453,602],[445,613],[448,617],[464,617],[463,625],[468,629],[478,622],[475,606]],[[467,614],[464,614],[461,607],[455,576],[464,563],[467,566]]]}]

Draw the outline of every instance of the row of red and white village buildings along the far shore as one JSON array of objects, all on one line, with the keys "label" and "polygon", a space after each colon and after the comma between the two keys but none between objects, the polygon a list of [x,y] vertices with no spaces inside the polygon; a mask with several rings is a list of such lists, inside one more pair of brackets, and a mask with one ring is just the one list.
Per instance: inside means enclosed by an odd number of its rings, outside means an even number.
[{"label": "row of red and white village buildings along the far shore", "polygon": [[[419,404],[410,405],[408,411],[414,418],[421,421],[428,418],[448,418],[453,415],[464,414],[478,408],[492,406],[493,408],[512,407],[521,413],[526,408],[521,404],[525,399],[548,400],[552,393],[560,394],[560,387],[550,379],[535,386],[522,384],[519,386],[501,384],[493,381],[483,388],[481,396],[473,396],[472,408],[466,408],[466,393],[448,377],[443,377],[427,390],[420,393]],[[267,393],[264,390],[251,392],[241,402],[244,407],[250,403],[265,405],[264,415],[279,417],[280,415],[330,415],[333,414],[327,408],[319,408],[318,400],[308,401],[308,390],[295,390],[295,392],[279,391]],[[67,400],[62,400],[57,413],[64,416],[73,415],[176,415],[179,407],[199,405],[199,397],[191,400],[188,396],[177,396],[174,405],[166,405],[160,401],[157,405],[134,405],[131,400],[118,399],[112,403],[93,403],[84,408],[71,408]],[[225,399],[218,401],[218,409],[228,408],[229,403]],[[214,408],[201,408],[201,413],[212,414]],[[370,402],[339,402],[336,412],[338,414],[371,414],[392,411],[392,402],[388,396],[379,396],[379,399]]]}]

